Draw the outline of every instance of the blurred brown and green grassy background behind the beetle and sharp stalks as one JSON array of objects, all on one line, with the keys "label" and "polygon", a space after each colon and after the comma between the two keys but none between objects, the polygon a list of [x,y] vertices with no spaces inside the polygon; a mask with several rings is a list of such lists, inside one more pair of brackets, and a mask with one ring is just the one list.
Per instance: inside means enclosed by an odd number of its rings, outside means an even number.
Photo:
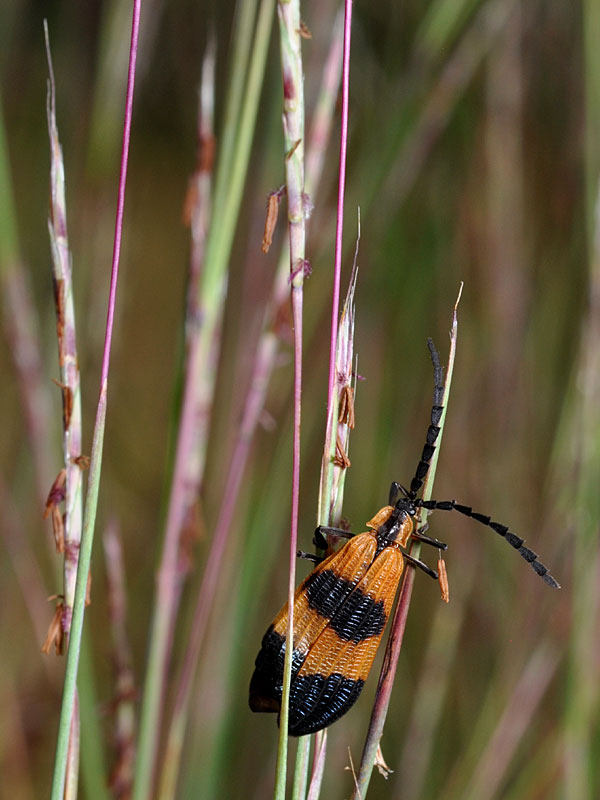
[{"label": "blurred brown and green grassy background behind the beetle and sharp stalks", "polygon": [[[127,785],[119,788],[114,780],[107,788],[123,757],[115,713],[123,697],[115,683],[119,645],[109,609],[115,590],[107,584],[102,539],[111,529],[122,543],[124,628],[135,686],[128,701],[137,713],[181,398],[190,271],[184,207],[197,165],[202,61],[212,41],[220,169],[236,48],[244,26],[247,41],[255,41],[256,8],[249,0],[239,8],[229,0],[151,0],[142,7],[80,680],[80,794],[86,798],[129,796]],[[329,0],[302,6],[311,34],[303,41],[309,136],[324,70],[335,63],[338,11]],[[0,793],[24,800],[48,794],[64,671],[64,658],[40,653],[54,609],[47,598],[62,591],[61,559],[42,513],[63,463],[61,399],[52,383],[59,373],[42,23],[47,18],[65,159],[83,452],[89,454],[130,15],[122,0],[13,0],[0,10]],[[267,197],[284,183],[274,4],[268,20],[225,259],[205,469],[185,552],[182,546],[164,686],[163,739],[217,518],[233,502],[188,709],[177,783],[177,796],[185,798],[269,797],[274,781],[276,722],[250,713],[247,689],[260,639],[287,586],[293,405],[287,304],[272,326],[275,368],[233,498],[228,483],[285,238],[284,199],[271,250],[261,252]],[[547,588],[492,531],[458,515],[431,517],[431,535],[450,545],[451,602],[442,604],[438,589],[417,576],[382,741],[393,773],[387,780],[374,774],[373,798],[583,800],[600,793],[598,36],[594,0],[354,6],[342,284],[345,291],[360,207],[355,351],[364,380],[357,386],[344,516],[353,531],[364,530],[385,504],[390,481],[410,481],[431,405],[426,339],[434,338],[445,363],[464,281],[434,497],[456,498],[510,525],[563,586]],[[299,544],[307,550],[325,430],[339,98],[330,113],[329,138],[318,145],[322,174],[310,191],[312,275],[304,289]],[[299,579],[307,570],[298,565]],[[324,797],[352,791],[349,754],[358,764],[376,682],[374,669],[356,707],[329,732]]]}]

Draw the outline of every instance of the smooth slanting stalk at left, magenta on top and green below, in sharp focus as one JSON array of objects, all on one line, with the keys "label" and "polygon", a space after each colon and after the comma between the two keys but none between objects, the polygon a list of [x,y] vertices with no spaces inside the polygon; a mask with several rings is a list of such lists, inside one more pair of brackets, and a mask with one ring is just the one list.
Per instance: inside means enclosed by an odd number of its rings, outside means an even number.
[{"label": "smooth slanting stalk at left, magenta on top and green below, in sharp focus", "polygon": [[73,605],[73,618],[71,622],[71,637],[67,651],[67,664],[63,688],[62,708],[60,714],[58,738],[56,743],[56,756],[54,763],[54,776],[52,780],[52,800],[63,800],[65,774],[67,769],[70,721],[75,704],[75,687],[77,682],[77,668],[79,665],[79,651],[83,631],[83,617],[85,613],[85,596],[87,590],[88,573],[92,557],[92,544],[94,539],[94,524],[98,504],[98,489],[100,485],[100,472],[102,467],[102,447],[104,442],[104,426],[106,420],[106,400],[108,391],[108,373],[110,366],[110,352],[116,304],[117,278],[119,274],[119,257],[121,252],[121,237],[123,229],[123,209],[125,205],[125,184],[127,177],[127,163],[129,156],[129,141],[131,135],[131,116],[133,110],[133,89],[135,84],[135,62],[137,56],[137,42],[140,21],[140,0],[134,0],[133,18],[131,28],[131,48],[129,56],[129,71],[127,78],[127,97],[125,101],[125,121],[123,126],[123,151],[121,155],[121,170],[119,176],[119,190],[117,201],[117,214],[115,220],[115,240],[111,268],[111,282],[108,299],[108,314],[106,321],[106,335],[104,339],[104,353],[102,358],[102,371],[100,377],[100,396],[96,412],[96,423],[92,442],[92,457],[90,475],[83,520],[81,537],[81,550],[79,553],[79,566],[75,586],[75,599]]}]

